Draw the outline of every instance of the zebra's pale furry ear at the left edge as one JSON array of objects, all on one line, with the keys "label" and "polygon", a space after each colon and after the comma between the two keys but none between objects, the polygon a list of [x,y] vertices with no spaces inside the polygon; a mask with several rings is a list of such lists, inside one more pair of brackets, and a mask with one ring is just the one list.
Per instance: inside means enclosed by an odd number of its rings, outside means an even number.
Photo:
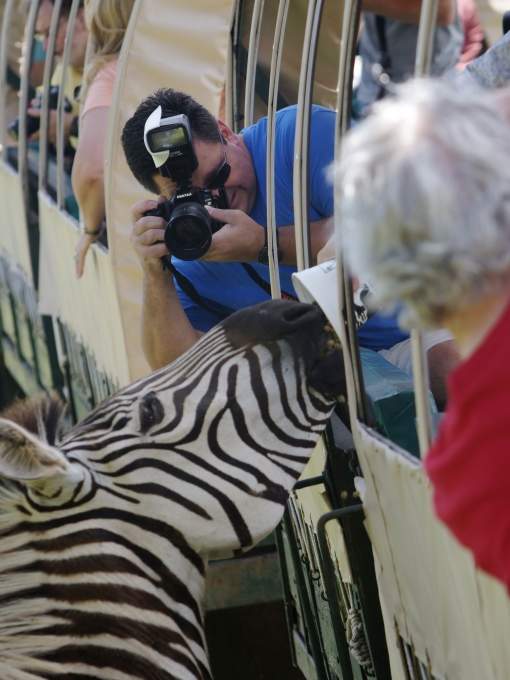
[{"label": "zebra's pale furry ear at the left edge", "polygon": [[0,477],[30,482],[65,474],[68,468],[60,451],[21,425],[0,418]]}]

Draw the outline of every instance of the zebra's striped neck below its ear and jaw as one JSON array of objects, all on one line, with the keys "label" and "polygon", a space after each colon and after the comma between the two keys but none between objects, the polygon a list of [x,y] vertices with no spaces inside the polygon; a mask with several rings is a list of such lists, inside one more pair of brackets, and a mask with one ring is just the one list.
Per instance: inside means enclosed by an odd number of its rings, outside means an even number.
[{"label": "zebra's striped neck below its ear and jaw", "polygon": [[204,561],[182,535],[128,502],[112,509],[101,491],[71,516],[14,493],[11,502],[18,521],[1,539],[0,576],[1,657],[11,671],[210,677]]}]

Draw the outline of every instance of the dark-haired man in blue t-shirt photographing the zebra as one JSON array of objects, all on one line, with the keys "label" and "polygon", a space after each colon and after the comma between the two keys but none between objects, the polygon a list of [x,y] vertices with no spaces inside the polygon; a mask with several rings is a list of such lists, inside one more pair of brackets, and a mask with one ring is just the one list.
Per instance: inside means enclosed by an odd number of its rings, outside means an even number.
[{"label": "dark-haired man in blue t-shirt photographing the zebra", "polygon": [[[295,107],[278,112],[275,140],[280,280],[288,297],[294,294],[295,270],[295,114]],[[173,90],[159,90],[145,99],[125,125],[122,142],[135,177],[149,191],[177,199],[159,209],[166,219],[146,214],[158,208],[154,200],[133,207],[132,242],[144,270],[143,347],[152,368],[178,357],[231,312],[270,295],[266,125],[262,119],[235,134],[191,97]],[[325,171],[334,155],[334,125],[333,111],[313,107],[309,212],[313,258],[331,231],[333,192]],[[204,213],[211,221],[209,234]],[[169,255],[168,245],[174,279],[161,262]],[[200,259],[188,259],[196,255]]]}]

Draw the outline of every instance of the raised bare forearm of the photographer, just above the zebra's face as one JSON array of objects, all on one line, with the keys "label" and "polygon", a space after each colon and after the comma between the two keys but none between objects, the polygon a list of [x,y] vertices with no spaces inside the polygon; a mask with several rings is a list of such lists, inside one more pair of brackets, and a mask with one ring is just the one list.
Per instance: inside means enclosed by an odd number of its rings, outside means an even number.
[{"label": "raised bare forearm of the photographer, just above the zebra's face", "polygon": [[190,324],[168,272],[145,273],[143,298],[143,351],[157,369],[184,354],[202,334]]}]

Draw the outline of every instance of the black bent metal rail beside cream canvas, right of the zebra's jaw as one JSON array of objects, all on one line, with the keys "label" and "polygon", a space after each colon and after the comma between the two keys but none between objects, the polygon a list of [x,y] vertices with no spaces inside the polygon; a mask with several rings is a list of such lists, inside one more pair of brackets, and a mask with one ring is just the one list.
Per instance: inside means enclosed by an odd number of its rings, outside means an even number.
[{"label": "black bent metal rail beside cream canvas, right of the zebra's jaw", "polygon": [[319,555],[321,562],[322,575],[324,578],[324,587],[328,598],[329,615],[331,618],[331,625],[333,627],[333,634],[335,636],[336,646],[338,650],[338,657],[340,659],[340,667],[342,670],[342,680],[353,680],[352,665],[350,660],[349,647],[345,639],[345,627],[340,616],[337,602],[339,601],[335,570],[329,555],[329,545],[326,535],[326,525],[334,519],[341,519],[349,515],[355,515],[363,512],[361,504],[349,505],[345,508],[332,510],[327,512],[317,522],[317,539],[319,541]]}]

